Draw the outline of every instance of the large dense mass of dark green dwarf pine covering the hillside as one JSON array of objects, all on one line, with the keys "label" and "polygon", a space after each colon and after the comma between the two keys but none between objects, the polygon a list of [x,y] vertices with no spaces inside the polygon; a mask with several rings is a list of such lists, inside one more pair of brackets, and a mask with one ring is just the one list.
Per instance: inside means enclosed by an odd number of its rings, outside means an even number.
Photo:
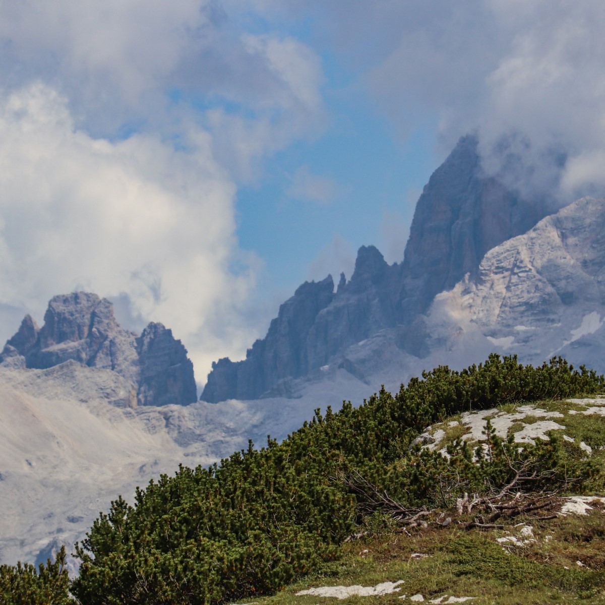
[{"label": "large dense mass of dark green dwarf pine covering the hillside", "polygon": [[[538,473],[541,487],[566,482],[572,471],[560,465],[556,439],[522,449],[512,437],[491,436],[488,456],[475,453],[478,464],[462,440],[449,462],[410,444],[427,425],[463,411],[604,388],[603,376],[560,358],[533,368],[491,355],[461,372],[425,372],[395,396],[383,388],[358,408],[344,402],[325,417],[316,410],[279,445],[269,439],[256,451],[250,443],[208,469],[181,466],[139,489],[134,506],[113,502],[77,545],[73,593],[90,605],[151,605],[273,592],[337,557],[362,521],[363,495],[339,480],[351,474],[410,506],[446,505],[460,489],[497,489],[514,464]],[[578,461],[573,473],[580,484],[594,469]]]}]

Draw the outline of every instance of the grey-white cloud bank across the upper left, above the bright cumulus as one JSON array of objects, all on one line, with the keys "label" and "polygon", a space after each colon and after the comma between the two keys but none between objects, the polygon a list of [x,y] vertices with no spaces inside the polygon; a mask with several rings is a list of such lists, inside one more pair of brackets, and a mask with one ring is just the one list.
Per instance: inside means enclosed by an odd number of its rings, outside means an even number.
[{"label": "grey-white cloud bank across the upper left, above the bright cumulus", "polygon": [[217,159],[250,181],[267,155],[323,128],[322,68],[302,42],[248,33],[240,9],[0,0],[0,78],[13,90],[47,83],[79,127],[111,140],[133,129],[178,139],[197,123],[214,134]]}]

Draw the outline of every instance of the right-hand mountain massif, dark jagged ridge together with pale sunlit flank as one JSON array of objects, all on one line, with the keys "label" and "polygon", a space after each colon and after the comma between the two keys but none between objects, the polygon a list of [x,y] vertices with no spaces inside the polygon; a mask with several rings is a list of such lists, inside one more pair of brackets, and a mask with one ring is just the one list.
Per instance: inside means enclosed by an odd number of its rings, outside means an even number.
[{"label": "right-hand mountain massif, dark jagged ridge together with pale sunlit flank", "polygon": [[603,201],[555,210],[486,176],[477,139],[461,139],[420,195],[402,263],[364,246],[336,290],[331,276],[302,284],[245,360],[215,362],[201,398],[296,396],[336,369],[376,388],[470,351],[586,362],[578,338],[603,317]]}]

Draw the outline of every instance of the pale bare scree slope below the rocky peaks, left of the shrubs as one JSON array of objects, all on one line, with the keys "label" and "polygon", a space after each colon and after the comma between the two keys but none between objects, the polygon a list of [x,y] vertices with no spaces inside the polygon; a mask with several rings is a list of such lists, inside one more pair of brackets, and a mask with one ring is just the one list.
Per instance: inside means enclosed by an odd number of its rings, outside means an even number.
[{"label": "pale bare scree slope below the rocky peaks, left of the shrubs", "polygon": [[263,446],[267,433],[284,439],[318,405],[356,399],[360,387],[343,372],[302,399],[131,408],[132,383],[116,371],[2,364],[0,564],[46,563],[62,544],[73,552],[118,494],[132,503],[137,486],[180,463],[209,466],[248,439]]}]

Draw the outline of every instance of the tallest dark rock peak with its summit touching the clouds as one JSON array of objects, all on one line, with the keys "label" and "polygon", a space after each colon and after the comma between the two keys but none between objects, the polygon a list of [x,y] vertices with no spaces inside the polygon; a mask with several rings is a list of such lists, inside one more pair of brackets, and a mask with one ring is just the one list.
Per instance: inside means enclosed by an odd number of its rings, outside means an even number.
[{"label": "tallest dark rock peak with its summit touching the clouds", "polygon": [[477,139],[460,139],[431,175],[416,204],[395,302],[397,319],[413,321],[434,296],[466,273],[476,275],[488,250],[531,229],[548,214],[545,204],[518,198],[485,177]]}]

